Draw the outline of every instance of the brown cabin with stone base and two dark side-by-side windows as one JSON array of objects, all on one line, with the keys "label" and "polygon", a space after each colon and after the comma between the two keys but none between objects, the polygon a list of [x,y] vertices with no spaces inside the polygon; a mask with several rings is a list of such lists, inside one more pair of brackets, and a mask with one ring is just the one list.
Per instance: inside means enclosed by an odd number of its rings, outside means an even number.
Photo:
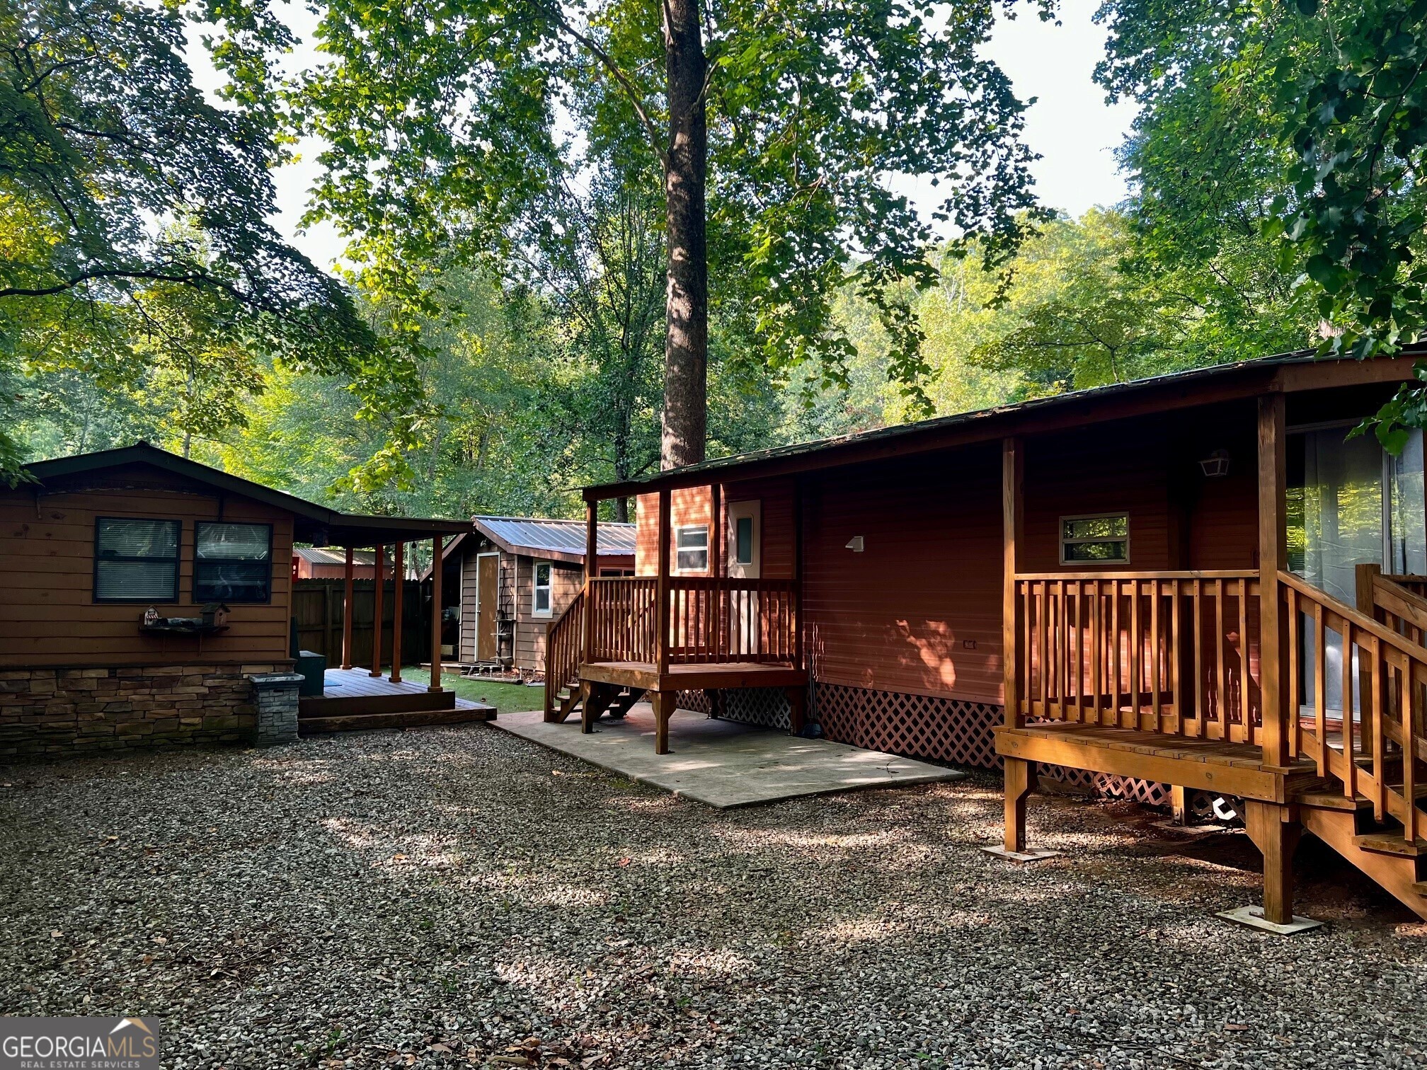
[{"label": "brown cabin with stone base and two dark side-by-side windows", "polygon": [[[0,486],[0,755],[251,740],[270,683],[295,732],[293,544],[345,548],[351,576],[354,546],[462,528],[338,512],[143,442],[26,471]],[[408,706],[454,705],[440,658],[420,691]]]}]

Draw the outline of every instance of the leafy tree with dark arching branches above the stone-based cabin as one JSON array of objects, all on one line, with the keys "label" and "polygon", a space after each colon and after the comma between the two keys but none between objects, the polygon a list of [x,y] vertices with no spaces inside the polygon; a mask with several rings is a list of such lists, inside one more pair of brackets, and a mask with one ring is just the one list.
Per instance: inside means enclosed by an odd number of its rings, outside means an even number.
[{"label": "leafy tree with dark arching branches above the stone-based cabin", "polygon": [[[223,104],[194,84],[190,19],[213,26]],[[270,63],[290,40],[244,0],[0,6],[6,374],[137,382],[156,352],[183,350],[197,384],[214,347],[238,345],[324,371],[381,368],[400,397],[410,375],[381,360],[347,291],[268,223],[281,157]],[[0,477],[16,478],[17,459],[0,431]]]}]

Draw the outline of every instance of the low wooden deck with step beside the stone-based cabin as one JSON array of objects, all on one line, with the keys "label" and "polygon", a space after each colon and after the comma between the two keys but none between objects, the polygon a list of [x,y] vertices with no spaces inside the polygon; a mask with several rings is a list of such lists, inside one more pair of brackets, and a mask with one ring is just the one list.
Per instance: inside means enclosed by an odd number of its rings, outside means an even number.
[{"label": "low wooden deck with step beside the stone-based cabin", "polygon": [[328,669],[320,696],[298,700],[297,726],[305,735],[371,728],[417,728],[489,720],[495,709],[430,691],[425,682],[372,676],[367,669]]}]

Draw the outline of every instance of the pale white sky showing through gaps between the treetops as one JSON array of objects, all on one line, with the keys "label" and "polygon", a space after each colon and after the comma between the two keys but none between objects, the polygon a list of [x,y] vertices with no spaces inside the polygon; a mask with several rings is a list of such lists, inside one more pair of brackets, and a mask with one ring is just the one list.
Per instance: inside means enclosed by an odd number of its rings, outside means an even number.
[{"label": "pale white sky showing through gaps between the treetops", "polygon": [[[1032,171],[1042,204],[1080,215],[1087,208],[1117,204],[1126,197],[1114,148],[1120,146],[1134,106],[1106,104],[1104,91],[1092,81],[1092,71],[1104,50],[1104,31],[1092,21],[1097,0],[1062,0],[1060,26],[1042,23],[1030,10],[1015,20],[1000,19],[986,47],[1010,77],[1022,100],[1036,97],[1026,114],[1025,137],[1040,154]],[[291,68],[314,63],[310,49],[315,19],[298,4],[288,4],[290,24],[304,44],[290,57]],[[213,88],[215,77],[204,63],[203,49],[190,49],[195,78]],[[275,224],[293,244],[320,267],[330,267],[341,254],[342,241],[331,227],[298,231],[307,191],[317,177],[320,146],[298,146],[300,160],[277,175],[278,217]],[[929,185],[898,183],[913,200],[940,201]]]}]

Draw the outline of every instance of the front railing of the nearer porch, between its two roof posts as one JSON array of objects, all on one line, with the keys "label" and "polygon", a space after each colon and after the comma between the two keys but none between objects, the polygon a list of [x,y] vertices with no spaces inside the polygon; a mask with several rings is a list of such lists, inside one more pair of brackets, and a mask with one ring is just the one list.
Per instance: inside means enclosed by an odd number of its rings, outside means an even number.
[{"label": "front railing of the nearer porch, between its two roof posts", "polygon": [[1259,579],[1017,575],[1022,713],[1259,742]]}]

